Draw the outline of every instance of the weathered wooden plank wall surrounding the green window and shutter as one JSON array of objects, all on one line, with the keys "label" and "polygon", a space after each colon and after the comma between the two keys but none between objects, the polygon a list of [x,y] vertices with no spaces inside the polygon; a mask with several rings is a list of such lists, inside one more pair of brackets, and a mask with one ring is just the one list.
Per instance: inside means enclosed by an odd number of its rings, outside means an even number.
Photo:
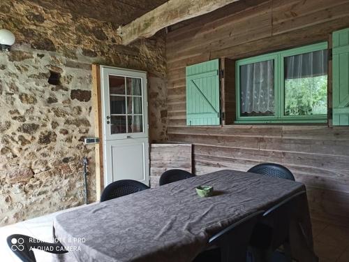
[{"label": "weathered wooden plank wall surrounding the green window and shutter", "polygon": [[349,1],[246,0],[186,24],[167,36],[168,135],[193,143],[195,173],[281,163],[306,184],[312,217],[348,226],[349,127],[186,126],[185,66],[329,41],[349,27]]}]

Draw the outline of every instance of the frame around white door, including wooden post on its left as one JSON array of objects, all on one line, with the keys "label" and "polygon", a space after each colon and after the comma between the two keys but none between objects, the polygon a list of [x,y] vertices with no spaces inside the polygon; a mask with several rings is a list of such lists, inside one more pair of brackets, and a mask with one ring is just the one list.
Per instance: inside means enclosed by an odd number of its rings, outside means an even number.
[{"label": "frame around white door, including wooden post on its left", "polygon": [[[142,72],[144,71],[136,71],[132,69],[126,69],[126,68],[117,68],[112,66],[101,66],[99,64],[92,64],[92,110],[94,112],[94,133],[96,138],[99,138],[99,143],[95,146],[95,163],[96,163],[96,201],[99,201],[101,198],[102,191],[104,189],[104,166],[103,166],[103,159],[105,157],[105,152],[103,150],[103,104],[102,104],[102,87],[101,87],[101,68],[115,68],[120,70],[127,70],[127,71],[135,71],[135,72]],[[144,83],[144,96],[147,96],[147,76],[145,78]],[[148,100],[148,97],[147,97]],[[144,107],[143,107],[144,108]],[[146,105],[144,110],[144,117],[147,117],[149,119],[149,111],[148,111],[148,105]],[[149,132],[149,123],[147,126],[144,126],[144,129],[147,129]]]}]

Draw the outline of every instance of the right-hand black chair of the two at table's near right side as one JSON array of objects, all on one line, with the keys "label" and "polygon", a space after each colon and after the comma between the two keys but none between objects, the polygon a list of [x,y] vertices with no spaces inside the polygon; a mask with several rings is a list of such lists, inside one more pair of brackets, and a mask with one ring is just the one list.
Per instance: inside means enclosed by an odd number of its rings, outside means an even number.
[{"label": "right-hand black chair of the two at table's near right side", "polygon": [[[290,196],[263,214],[251,235],[249,251],[253,259],[249,261],[292,261],[290,228],[292,227],[292,231],[304,233],[302,225],[295,218],[297,212],[301,212],[299,210],[301,201],[306,201],[305,191]],[[278,251],[280,247],[283,247],[282,252]],[[309,250],[311,249],[309,247]],[[310,256],[312,255],[313,253]]]}]

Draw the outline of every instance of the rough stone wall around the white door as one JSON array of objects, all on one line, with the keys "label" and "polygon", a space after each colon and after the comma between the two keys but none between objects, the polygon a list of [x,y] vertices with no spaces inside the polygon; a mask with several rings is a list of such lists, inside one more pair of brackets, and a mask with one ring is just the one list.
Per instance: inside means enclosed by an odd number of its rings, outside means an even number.
[{"label": "rough stone wall around the white door", "polygon": [[[91,63],[149,72],[151,141],[167,140],[165,41],[119,45],[118,24],[38,6],[0,3],[0,28],[17,41],[0,52],[0,225],[82,205],[82,157],[94,201]],[[47,81],[58,73],[58,85]],[[154,105],[154,106],[152,106]]]}]

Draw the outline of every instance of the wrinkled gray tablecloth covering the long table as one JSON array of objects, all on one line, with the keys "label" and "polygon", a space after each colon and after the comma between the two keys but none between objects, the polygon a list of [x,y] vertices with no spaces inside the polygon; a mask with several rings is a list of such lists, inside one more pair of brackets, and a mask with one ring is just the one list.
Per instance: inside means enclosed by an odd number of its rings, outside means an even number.
[{"label": "wrinkled gray tablecloth covering the long table", "polygon": [[[199,185],[216,195],[200,198]],[[299,182],[221,170],[59,214],[54,229],[76,261],[191,261],[225,226],[303,190]]]}]

